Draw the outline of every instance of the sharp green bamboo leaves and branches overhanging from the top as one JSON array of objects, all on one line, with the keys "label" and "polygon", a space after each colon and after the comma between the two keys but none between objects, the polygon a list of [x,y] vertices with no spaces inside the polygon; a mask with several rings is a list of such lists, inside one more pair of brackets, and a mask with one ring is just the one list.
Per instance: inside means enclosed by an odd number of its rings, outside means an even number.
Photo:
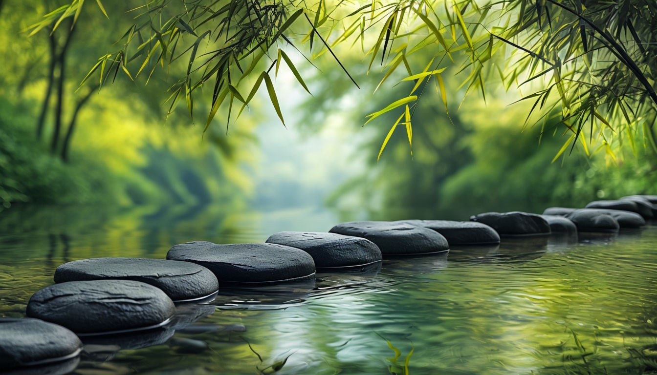
[{"label": "sharp green bamboo leaves and branches overhanging from the top", "polygon": [[[49,13],[35,30],[76,17],[82,3]],[[88,78],[99,74],[103,81],[120,70],[150,75],[158,64],[185,64],[171,87],[170,110],[185,99],[193,116],[194,103],[206,95],[201,87],[210,85],[206,129],[224,102],[240,113],[263,82],[284,122],[271,71],[286,64],[307,89],[284,47],[307,42],[306,55],[316,57],[347,43],[361,47],[368,70],[384,66],[379,85],[388,79],[414,83],[367,120],[397,112],[389,135],[403,125],[411,146],[413,115],[427,85],[435,85],[447,108],[451,94],[480,91],[486,97],[485,87],[496,81],[507,89],[528,88],[518,99],[532,100],[530,112],[539,116],[531,121],[560,110],[559,125],[544,129],[570,134],[558,154],[576,142],[585,152],[594,147],[613,154],[624,144],[636,150],[641,135],[654,146],[657,18],[648,0],[156,0],[133,13],[135,24],[120,38],[121,48],[104,55]],[[456,71],[465,76],[462,88],[448,90],[443,75]]]}]

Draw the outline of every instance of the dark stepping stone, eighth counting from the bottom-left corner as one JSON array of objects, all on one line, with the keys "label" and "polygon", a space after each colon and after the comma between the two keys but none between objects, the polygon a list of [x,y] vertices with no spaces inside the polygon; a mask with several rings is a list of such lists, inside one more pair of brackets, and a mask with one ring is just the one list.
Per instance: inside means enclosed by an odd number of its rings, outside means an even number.
[{"label": "dark stepping stone, eighth counting from the bottom-left corner", "polygon": [[470,221],[478,221],[489,225],[501,237],[545,236],[551,232],[547,221],[535,213],[520,211],[486,212],[471,216]]}]

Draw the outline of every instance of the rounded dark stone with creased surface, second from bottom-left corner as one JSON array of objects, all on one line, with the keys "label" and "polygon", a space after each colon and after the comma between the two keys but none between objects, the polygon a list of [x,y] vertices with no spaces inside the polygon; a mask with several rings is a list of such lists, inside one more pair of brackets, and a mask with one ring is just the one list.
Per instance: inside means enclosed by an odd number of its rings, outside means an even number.
[{"label": "rounded dark stone with creased surface, second from bottom-left corner", "polygon": [[174,313],[162,290],[134,280],[62,282],[36,292],[27,308],[28,317],[60,324],[78,336],[157,328]]}]

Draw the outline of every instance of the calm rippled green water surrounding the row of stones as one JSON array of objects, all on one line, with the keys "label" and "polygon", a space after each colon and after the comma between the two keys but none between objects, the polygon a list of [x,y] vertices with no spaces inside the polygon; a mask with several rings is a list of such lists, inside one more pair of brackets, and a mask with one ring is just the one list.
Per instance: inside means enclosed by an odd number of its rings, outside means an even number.
[{"label": "calm rippled green water surrounding the row of stones", "polygon": [[[195,239],[261,242],[271,234],[263,228],[276,227],[267,215],[5,211],[0,316],[23,317],[30,296],[65,261],[164,257],[171,245]],[[319,230],[311,226],[325,219],[299,216],[286,229]],[[117,351],[95,342],[74,373],[657,373],[657,226],[390,259],[371,275],[224,290],[203,309],[191,326],[150,339],[150,347]]]}]

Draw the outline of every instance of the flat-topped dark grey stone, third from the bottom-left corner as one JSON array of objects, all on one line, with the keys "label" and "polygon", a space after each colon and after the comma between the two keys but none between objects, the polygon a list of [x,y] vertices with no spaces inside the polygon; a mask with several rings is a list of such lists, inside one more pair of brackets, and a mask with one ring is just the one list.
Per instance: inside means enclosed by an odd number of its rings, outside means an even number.
[{"label": "flat-topped dark grey stone, third from the bottom-left corner", "polygon": [[151,284],[162,289],[174,302],[213,299],[219,289],[216,276],[206,267],[168,259],[80,259],[64,263],[55,270],[55,282],[108,279]]}]

